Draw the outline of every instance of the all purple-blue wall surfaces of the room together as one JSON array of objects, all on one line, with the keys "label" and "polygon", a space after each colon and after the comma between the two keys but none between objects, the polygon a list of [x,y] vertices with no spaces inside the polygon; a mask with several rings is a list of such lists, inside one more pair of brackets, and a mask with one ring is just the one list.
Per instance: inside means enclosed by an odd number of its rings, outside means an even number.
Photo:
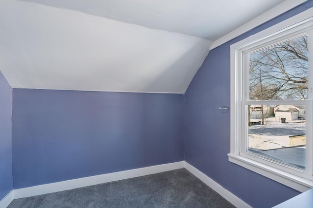
[{"label": "all purple-blue wall surfaces of the room together", "polygon": [[297,195],[228,161],[230,114],[218,107],[230,105],[229,46],[312,6],[212,50],[185,97],[14,89],[13,158],[12,89],[0,74],[0,199],[12,189],[11,159],[14,189],[185,159],[255,208]]}]

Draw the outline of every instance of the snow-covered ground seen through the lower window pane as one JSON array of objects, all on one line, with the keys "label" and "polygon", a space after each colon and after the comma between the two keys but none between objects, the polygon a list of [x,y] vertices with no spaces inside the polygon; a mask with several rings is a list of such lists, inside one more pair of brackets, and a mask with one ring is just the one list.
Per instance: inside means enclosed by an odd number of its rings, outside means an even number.
[{"label": "snow-covered ground seen through the lower window pane", "polygon": [[[251,122],[261,119],[251,119]],[[264,125],[252,125],[248,128],[248,147],[270,150],[290,146],[289,136],[305,133],[305,120],[293,120],[281,123],[275,117],[264,119]]]}]

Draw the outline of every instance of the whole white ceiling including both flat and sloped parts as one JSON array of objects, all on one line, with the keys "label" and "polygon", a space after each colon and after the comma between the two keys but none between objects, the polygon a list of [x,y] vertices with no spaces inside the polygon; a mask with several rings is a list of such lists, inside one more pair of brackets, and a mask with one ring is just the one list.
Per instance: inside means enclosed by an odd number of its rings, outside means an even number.
[{"label": "whole white ceiling including both flat and sloped parts", "polygon": [[184,93],[215,40],[283,1],[0,0],[0,71],[13,88]]}]

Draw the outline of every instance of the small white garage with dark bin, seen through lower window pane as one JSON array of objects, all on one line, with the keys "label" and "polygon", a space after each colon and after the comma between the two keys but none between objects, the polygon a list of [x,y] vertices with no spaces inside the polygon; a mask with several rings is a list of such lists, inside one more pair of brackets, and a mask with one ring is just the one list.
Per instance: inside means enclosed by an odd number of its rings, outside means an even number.
[{"label": "small white garage with dark bin, seen through lower window pane", "polygon": [[[300,111],[302,112],[300,115]],[[279,105],[274,108],[275,119],[298,120],[300,116],[305,118],[304,106]]]}]

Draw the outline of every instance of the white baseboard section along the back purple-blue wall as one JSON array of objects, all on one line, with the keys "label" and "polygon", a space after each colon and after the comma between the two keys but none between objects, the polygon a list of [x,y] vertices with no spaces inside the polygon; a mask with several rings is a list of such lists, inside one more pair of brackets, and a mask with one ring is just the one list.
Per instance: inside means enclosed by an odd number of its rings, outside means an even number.
[{"label": "white baseboard section along the back purple-blue wall", "polygon": [[44,184],[39,186],[27,187],[22,189],[14,189],[14,199],[20,199],[29,196],[36,196],[45,193],[53,193],[57,191],[76,189],[97,184],[103,184],[111,181],[118,181],[128,178],[134,178],[169,170],[181,169],[184,166],[184,161],[168,163],[163,165],[150,166],[146,168],[139,168],[133,170],[125,170],[120,172],[107,173],[102,175],[95,175],[85,178],[78,178],[73,180],[61,181],[51,184]]}]

